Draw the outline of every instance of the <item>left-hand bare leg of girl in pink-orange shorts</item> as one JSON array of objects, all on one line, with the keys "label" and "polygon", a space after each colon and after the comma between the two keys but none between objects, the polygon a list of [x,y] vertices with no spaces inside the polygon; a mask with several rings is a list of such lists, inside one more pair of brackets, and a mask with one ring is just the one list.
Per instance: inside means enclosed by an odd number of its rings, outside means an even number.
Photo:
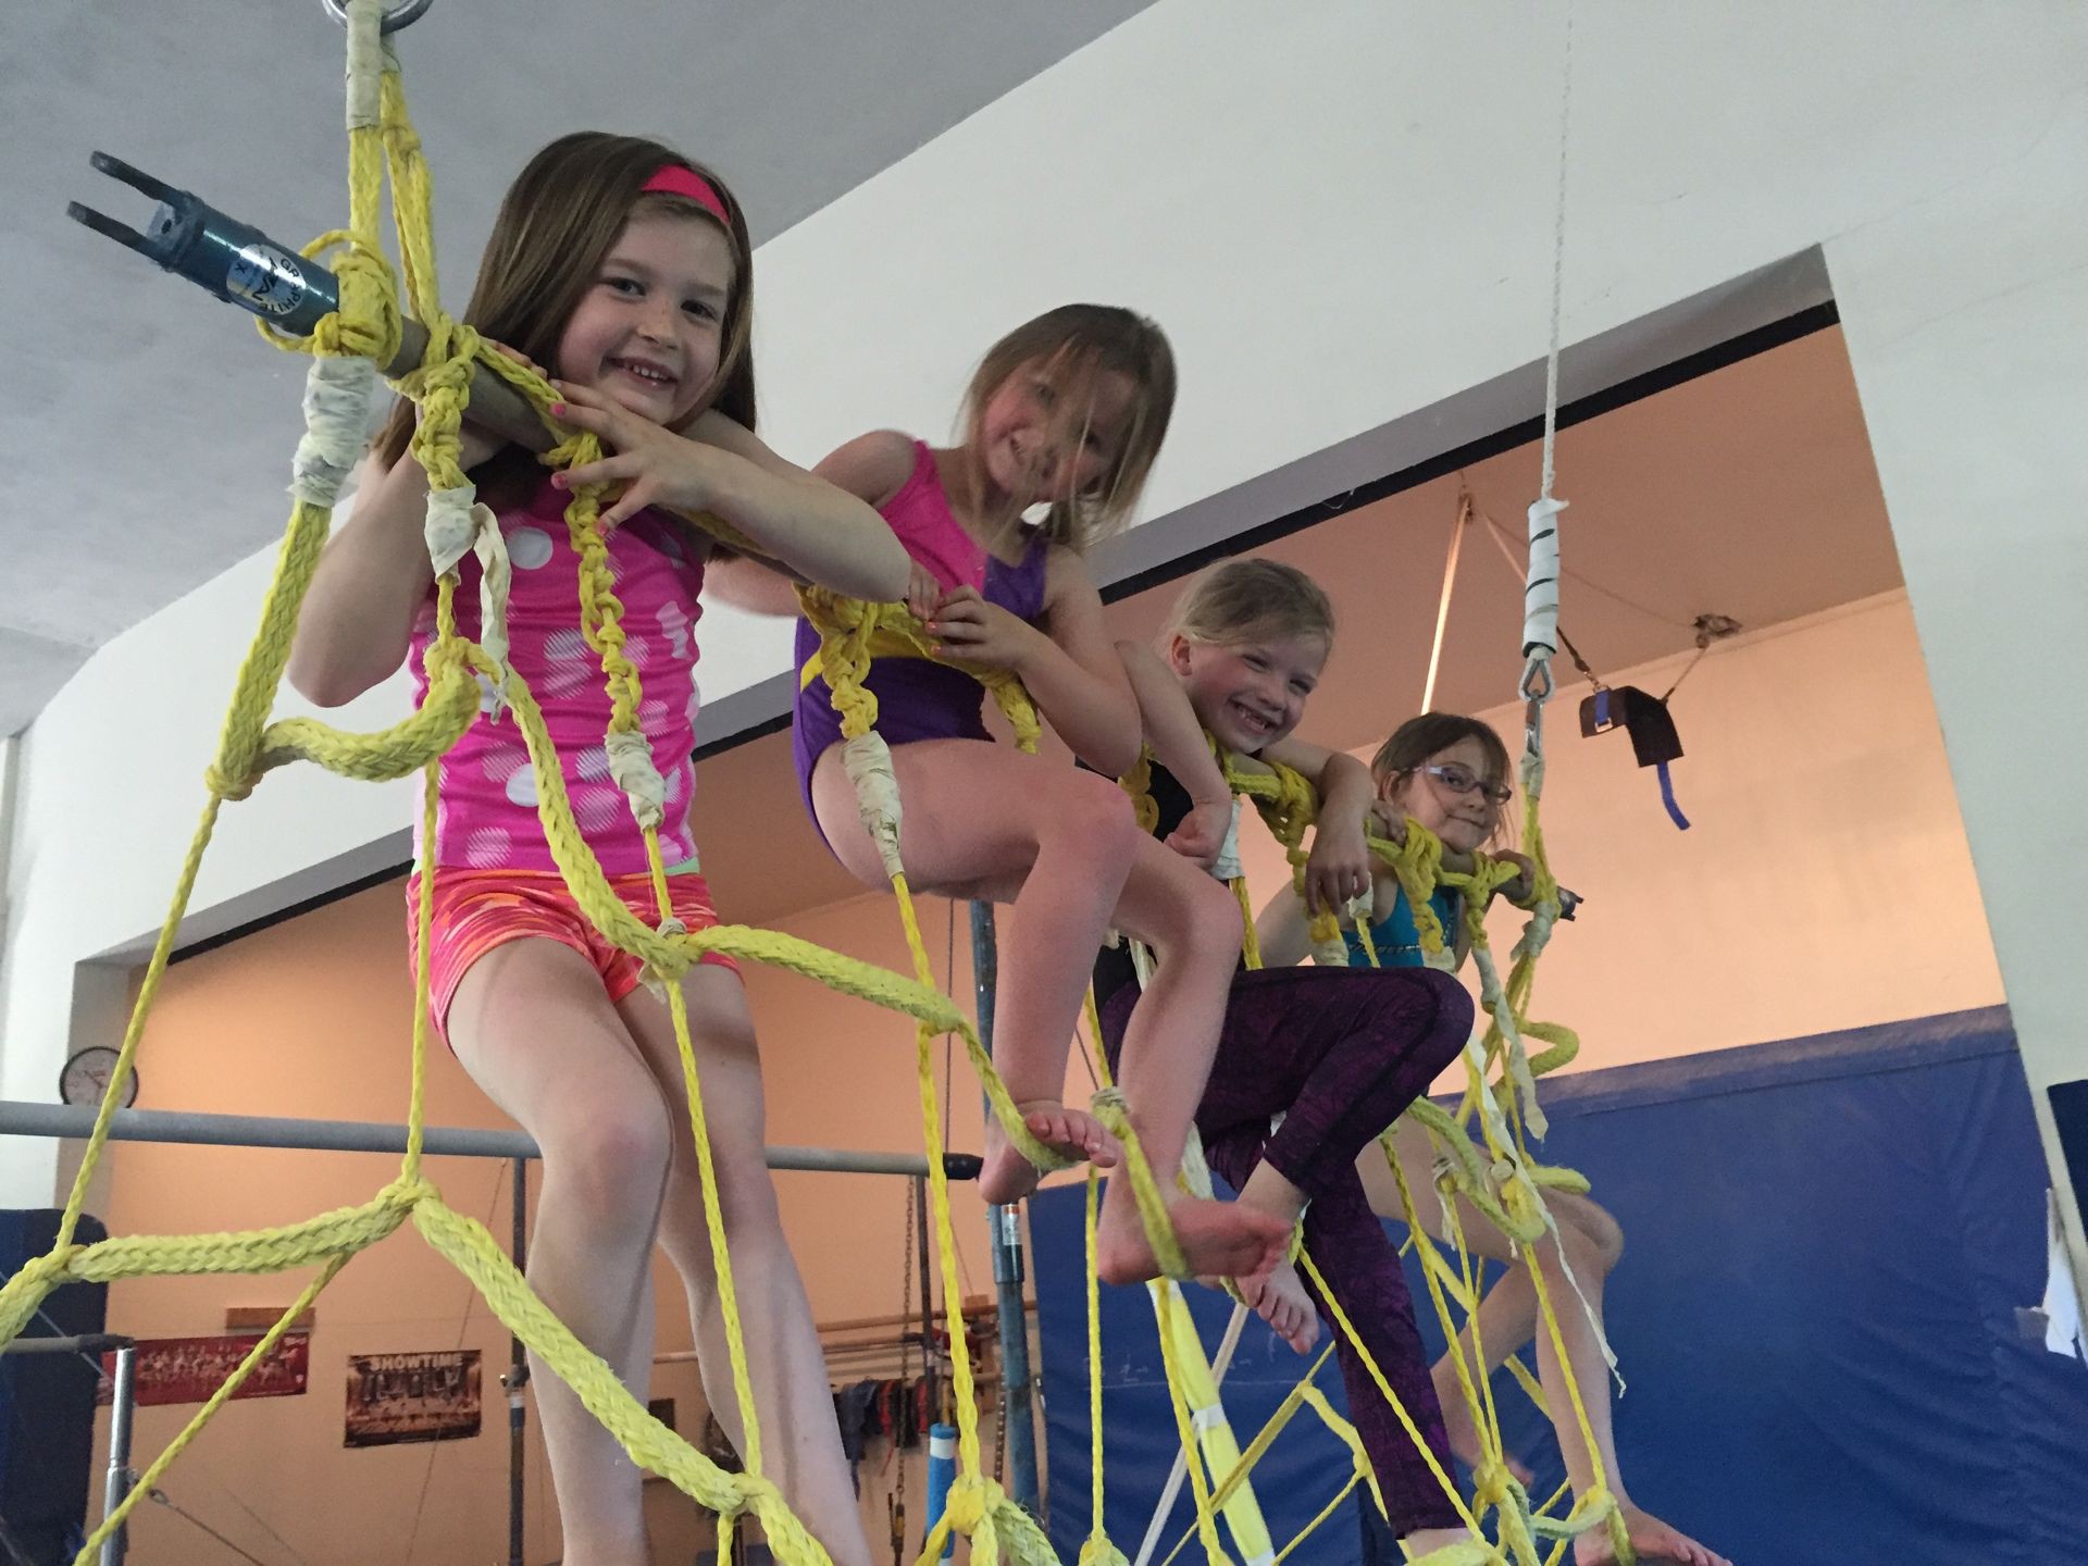
[{"label": "left-hand bare leg of girl in pink-orange shorts", "polygon": [[[645,1397],[647,1267],[668,1169],[660,1088],[580,954],[514,940],[457,986],[449,1040],[478,1086],[537,1138],[543,1188],[528,1280]],[[549,1372],[532,1366],[570,1566],[645,1566],[639,1468]]]}]

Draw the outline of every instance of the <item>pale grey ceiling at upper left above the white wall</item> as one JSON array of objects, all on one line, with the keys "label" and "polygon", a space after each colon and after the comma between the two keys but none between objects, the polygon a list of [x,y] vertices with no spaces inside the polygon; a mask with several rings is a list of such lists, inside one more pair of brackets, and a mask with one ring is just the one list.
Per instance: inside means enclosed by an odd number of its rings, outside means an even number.
[{"label": "pale grey ceiling at upper left above the white wall", "polygon": [[[762,242],[1146,4],[434,0],[399,48],[447,299],[464,303],[507,180],[568,129],[695,152]],[[69,200],[134,228],[150,211],[88,152],[303,244],[345,215],[340,38],[319,0],[0,8],[0,445],[17,464],[0,543],[19,585],[0,599],[0,735],[102,641],[276,539],[301,432],[301,359],[65,219]]]}]

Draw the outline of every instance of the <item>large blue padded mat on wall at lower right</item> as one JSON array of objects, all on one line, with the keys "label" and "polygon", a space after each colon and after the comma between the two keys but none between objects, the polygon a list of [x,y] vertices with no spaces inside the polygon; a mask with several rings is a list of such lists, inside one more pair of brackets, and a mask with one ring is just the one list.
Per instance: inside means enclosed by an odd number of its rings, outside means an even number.
[{"label": "large blue padded mat on wall at lower right", "polygon": [[[1545,1159],[1624,1226],[1610,1336],[1631,1493],[1737,1562],[2088,1562],[2088,1368],[2023,1340],[2044,1292],[2044,1159],[2004,1009],[1716,1050],[1545,1086]],[[1088,1533],[1077,1188],[1031,1203],[1050,1535]],[[1395,1234],[1403,1232],[1391,1226]],[[1422,1292],[1430,1347],[1441,1332]],[[1144,1290],[1102,1290],[1111,1535],[1136,1553],[1176,1453]],[[1230,1303],[1192,1288],[1215,1349]],[[1301,1372],[1251,1324],[1228,1378],[1242,1441]],[[1340,1401],[1340,1378],[1322,1372]],[[1539,1493],[1556,1443],[1495,1382]],[[1347,1457],[1301,1420],[1257,1472],[1278,1543]],[[1178,1505],[1169,1545],[1190,1522]],[[1192,1545],[1194,1549],[1194,1545]],[[1361,1558],[1353,1512],[1313,1562]]]}]

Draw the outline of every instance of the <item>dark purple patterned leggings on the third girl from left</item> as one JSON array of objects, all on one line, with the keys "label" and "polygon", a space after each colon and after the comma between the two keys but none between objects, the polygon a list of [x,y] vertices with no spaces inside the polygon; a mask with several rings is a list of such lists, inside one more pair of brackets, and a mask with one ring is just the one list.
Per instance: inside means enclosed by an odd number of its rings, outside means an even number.
[{"label": "dark purple patterned leggings on the third girl from left", "polygon": [[[1115,1059],[1138,1000],[1125,986],[1102,1006]],[[1434,969],[1259,969],[1232,981],[1211,1082],[1196,1109],[1211,1169],[1238,1190],[1263,1159],[1305,1192],[1305,1249],[1349,1313],[1414,1424],[1449,1472],[1443,1407],[1428,1376],[1399,1253],[1370,1211],[1357,1155],[1457,1059],[1472,996]],[[1270,1117],[1284,1123],[1272,1134]],[[1305,1284],[1311,1290],[1311,1282]],[[1315,1292],[1315,1290],[1313,1290]],[[1397,1533],[1457,1526],[1422,1453],[1384,1401],[1326,1301],[1349,1389],[1349,1418],[1378,1470]]]}]

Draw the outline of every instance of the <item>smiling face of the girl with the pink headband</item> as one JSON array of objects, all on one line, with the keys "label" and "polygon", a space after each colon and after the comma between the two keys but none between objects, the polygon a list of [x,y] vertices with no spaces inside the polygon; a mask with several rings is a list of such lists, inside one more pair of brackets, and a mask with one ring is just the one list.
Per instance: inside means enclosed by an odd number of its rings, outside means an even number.
[{"label": "smiling face of the girl with the pink headband", "polygon": [[679,426],[718,378],[735,271],[733,242],[714,221],[633,213],[566,319],[557,376]]}]

